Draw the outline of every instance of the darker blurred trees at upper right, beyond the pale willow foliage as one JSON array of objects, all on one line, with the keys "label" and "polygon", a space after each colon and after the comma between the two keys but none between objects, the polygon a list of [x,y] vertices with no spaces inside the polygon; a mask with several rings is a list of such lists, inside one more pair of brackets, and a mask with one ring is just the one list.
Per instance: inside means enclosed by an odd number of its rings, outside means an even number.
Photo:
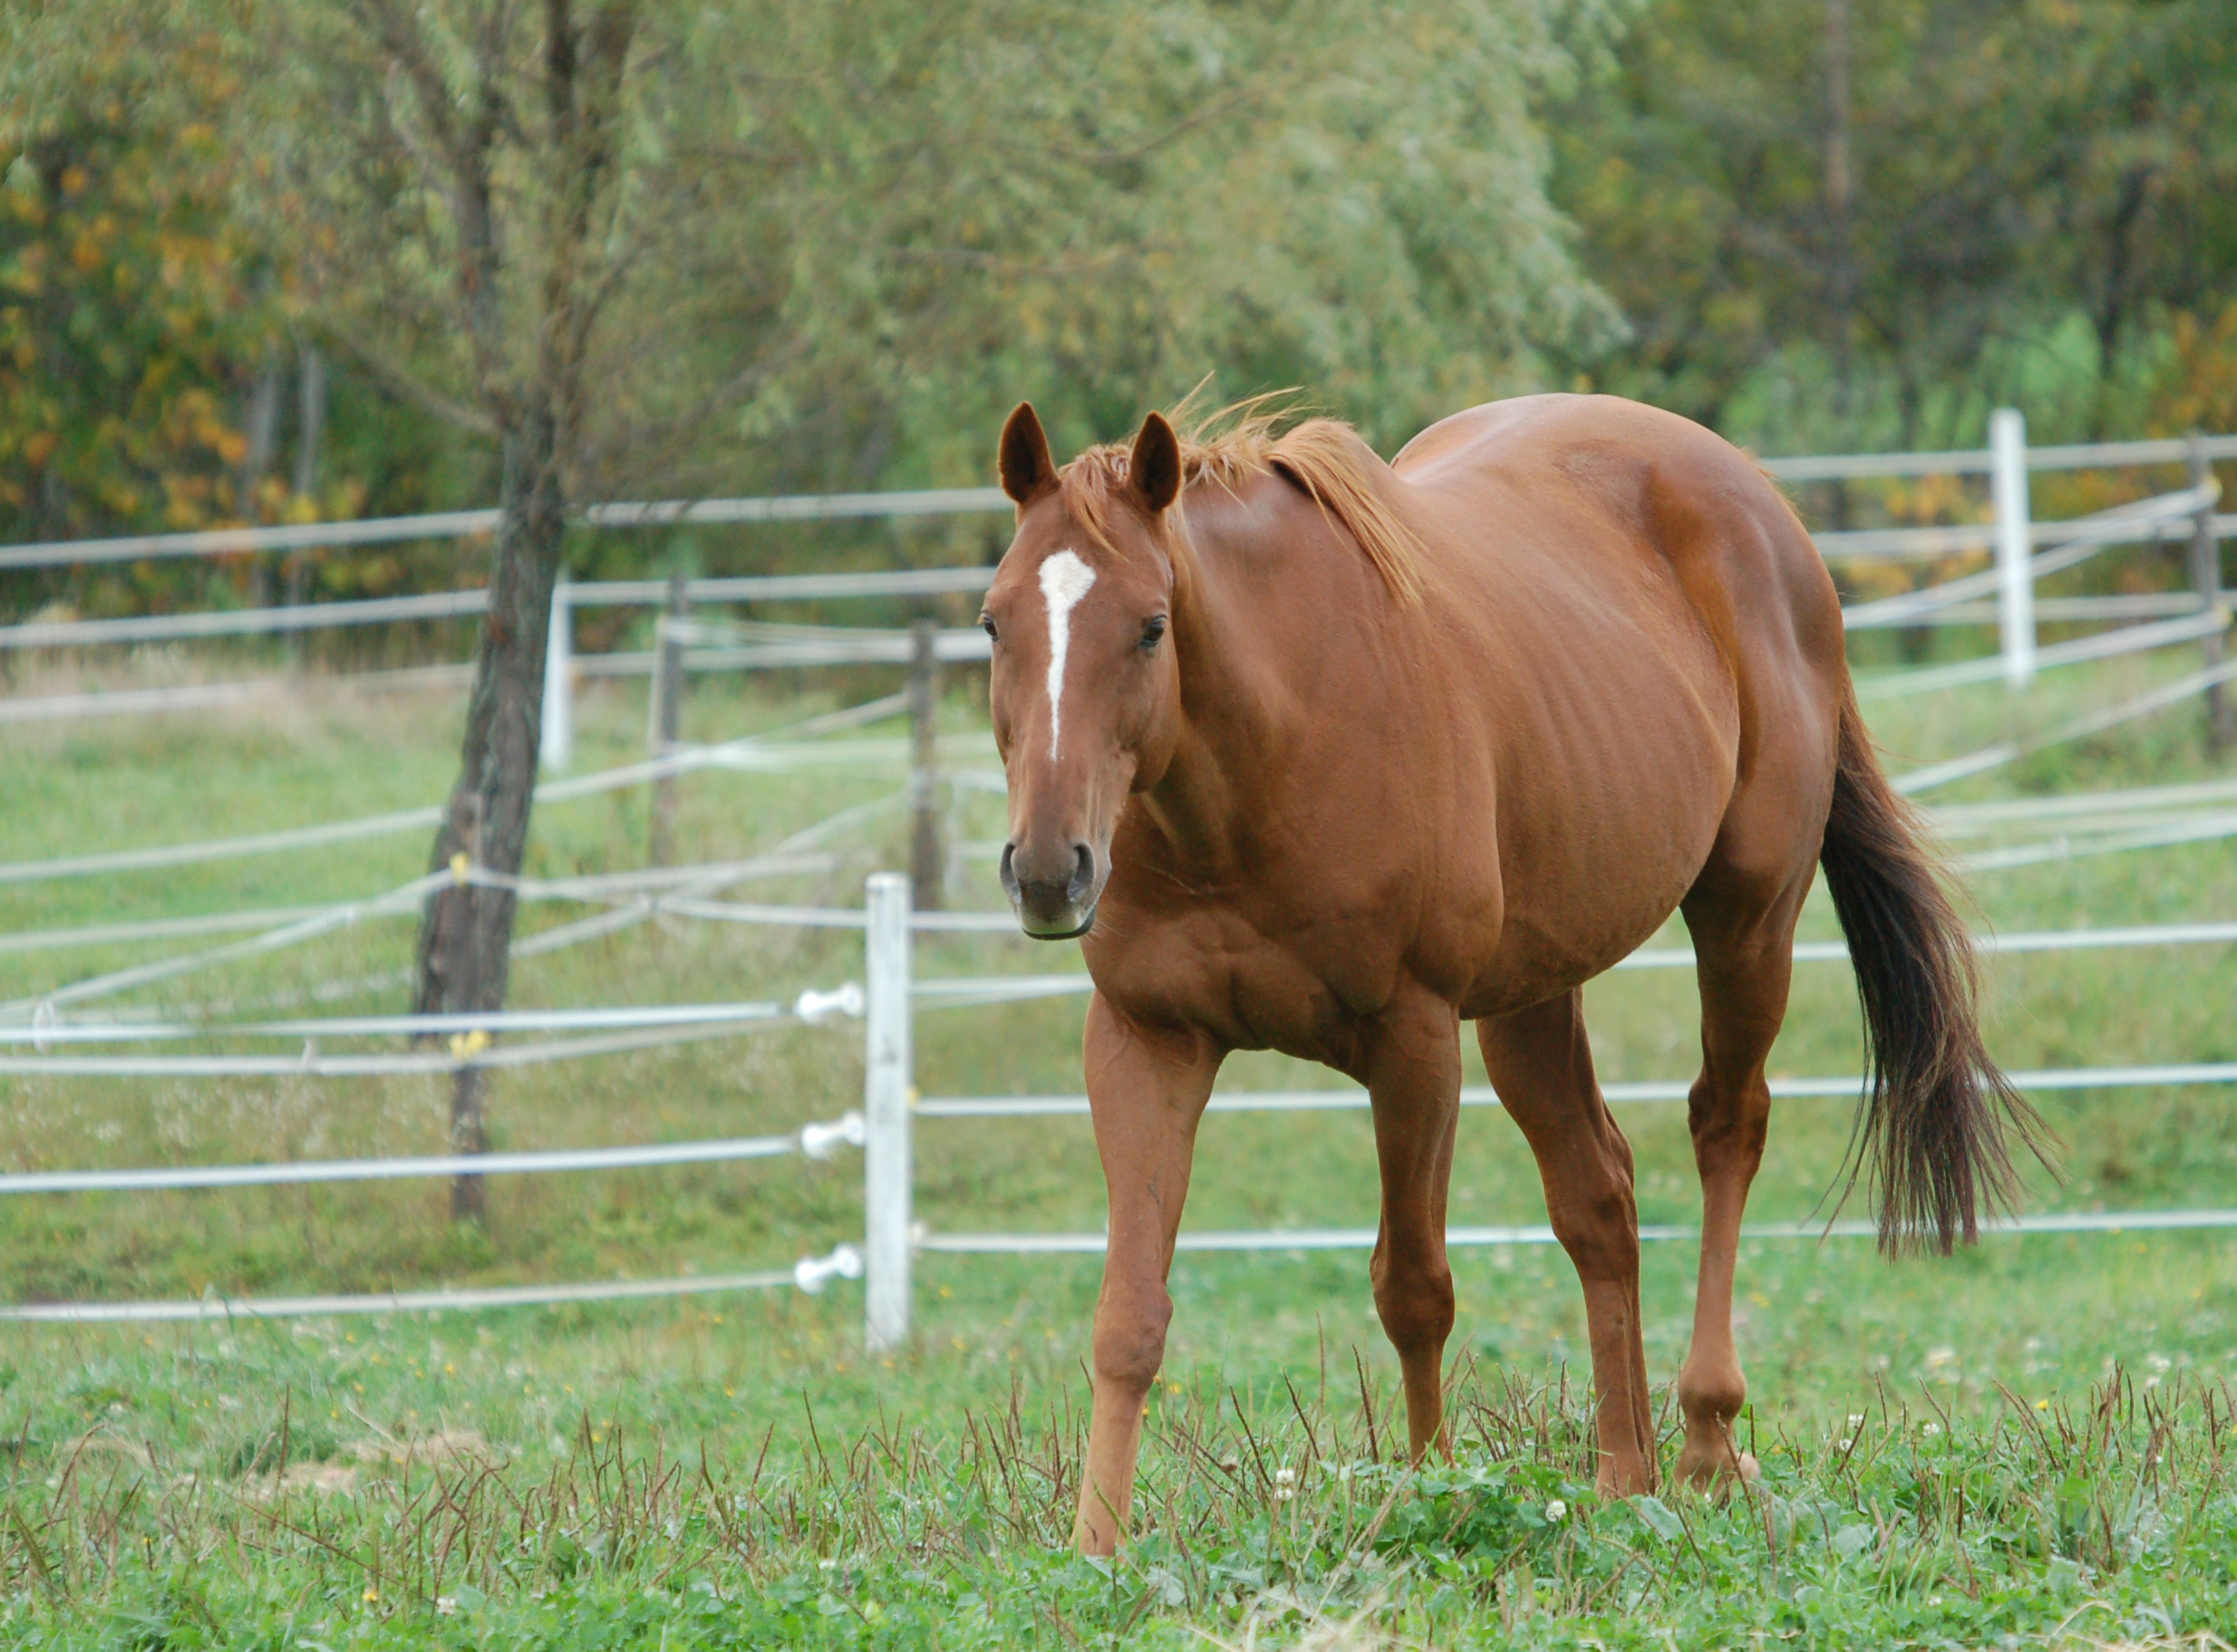
[{"label": "darker blurred trees at upper right, beyond the pale willow foliage", "polygon": [[1658,0],[1550,121],[1633,326],[1586,364],[1776,452],[2134,429],[2230,300],[2230,54],[2215,0]]}]

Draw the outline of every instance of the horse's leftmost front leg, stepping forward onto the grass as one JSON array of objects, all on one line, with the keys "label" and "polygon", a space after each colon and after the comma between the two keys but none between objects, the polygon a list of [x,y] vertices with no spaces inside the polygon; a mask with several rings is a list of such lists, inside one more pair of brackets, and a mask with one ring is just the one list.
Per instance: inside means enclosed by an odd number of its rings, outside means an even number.
[{"label": "horse's leftmost front leg, stepping forward onto the grass", "polygon": [[1165,1274],[1221,1053],[1195,1031],[1136,1026],[1101,993],[1087,1006],[1087,1104],[1110,1189],[1110,1250],[1096,1299],[1087,1464],[1072,1525],[1083,1554],[1110,1554],[1127,1534],[1143,1402],[1165,1361],[1172,1319]]}]

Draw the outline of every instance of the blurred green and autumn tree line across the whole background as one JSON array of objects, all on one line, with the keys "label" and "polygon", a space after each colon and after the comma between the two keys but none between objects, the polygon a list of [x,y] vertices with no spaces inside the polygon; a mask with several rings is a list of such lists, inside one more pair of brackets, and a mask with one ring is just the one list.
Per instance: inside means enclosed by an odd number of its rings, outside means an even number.
[{"label": "blurred green and autumn tree line across the whole background", "polygon": [[[18,0],[0,539],[490,503],[490,398],[553,349],[568,501],[980,483],[1018,396],[1069,447],[1206,376],[1304,387],[1385,452],[1584,384],[1763,452],[1978,445],[2007,400],[2038,440],[2237,427],[2230,0],[626,7],[555,275],[532,60],[608,11]],[[443,150],[483,127],[468,302]],[[787,543],[823,541],[736,552]],[[4,597],[371,595],[492,554]]]}]

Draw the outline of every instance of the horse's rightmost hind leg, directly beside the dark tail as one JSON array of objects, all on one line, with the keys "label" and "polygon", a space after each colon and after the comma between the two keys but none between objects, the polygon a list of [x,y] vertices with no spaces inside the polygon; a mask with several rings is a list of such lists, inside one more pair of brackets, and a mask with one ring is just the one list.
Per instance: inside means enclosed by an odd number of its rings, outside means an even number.
[{"label": "horse's rightmost hind leg, directly beside the dark tail", "polygon": [[1693,1487],[1714,1489],[1756,1473],[1754,1458],[1731,1440],[1731,1422],[1747,1404],[1747,1377],[1731,1341],[1731,1283],[1740,1214],[1772,1118],[1763,1066],[1787,1013],[1794,921],[1807,892],[1807,865],[1799,876],[1763,881],[1711,863],[1682,908],[1700,977],[1702,1051],[1687,1104],[1702,1200],[1700,1288],[1693,1346],[1678,1375],[1684,1413],[1678,1478]]}]

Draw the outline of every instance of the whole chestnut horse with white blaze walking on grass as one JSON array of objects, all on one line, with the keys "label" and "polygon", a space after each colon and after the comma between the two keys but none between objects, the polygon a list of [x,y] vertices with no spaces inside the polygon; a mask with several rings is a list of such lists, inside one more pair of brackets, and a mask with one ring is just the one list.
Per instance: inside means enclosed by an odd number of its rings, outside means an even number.
[{"label": "whole chestnut horse with white blaze walking on grass", "polygon": [[1083,937],[1096,988],[1110,1252],[1076,1542],[1107,1554],[1127,1529],[1197,1122],[1228,1051],[1367,1086],[1376,1308],[1414,1458],[1447,1444],[1463,1019],[1584,1283],[1599,1487],[1655,1487],[1631,1147],[1579,988],[1673,910],[1702,1008],[1678,1475],[1752,1473],[1729,1433],[1747,1393],[1731,1270],[1819,865],[1863,1001],[1857,1165],[1881,1243],[1971,1241],[2013,1185],[2007,1124],[2033,1140],[1787,501],[1707,429],[1597,396],[1476,407],[1389,465],[1331,420],[1177,436],[1150,414],[1132,449],[1058,469],[1020,405],[1000,469],[1018,503],[984,613],[1002,883],[1027,934]]}]

